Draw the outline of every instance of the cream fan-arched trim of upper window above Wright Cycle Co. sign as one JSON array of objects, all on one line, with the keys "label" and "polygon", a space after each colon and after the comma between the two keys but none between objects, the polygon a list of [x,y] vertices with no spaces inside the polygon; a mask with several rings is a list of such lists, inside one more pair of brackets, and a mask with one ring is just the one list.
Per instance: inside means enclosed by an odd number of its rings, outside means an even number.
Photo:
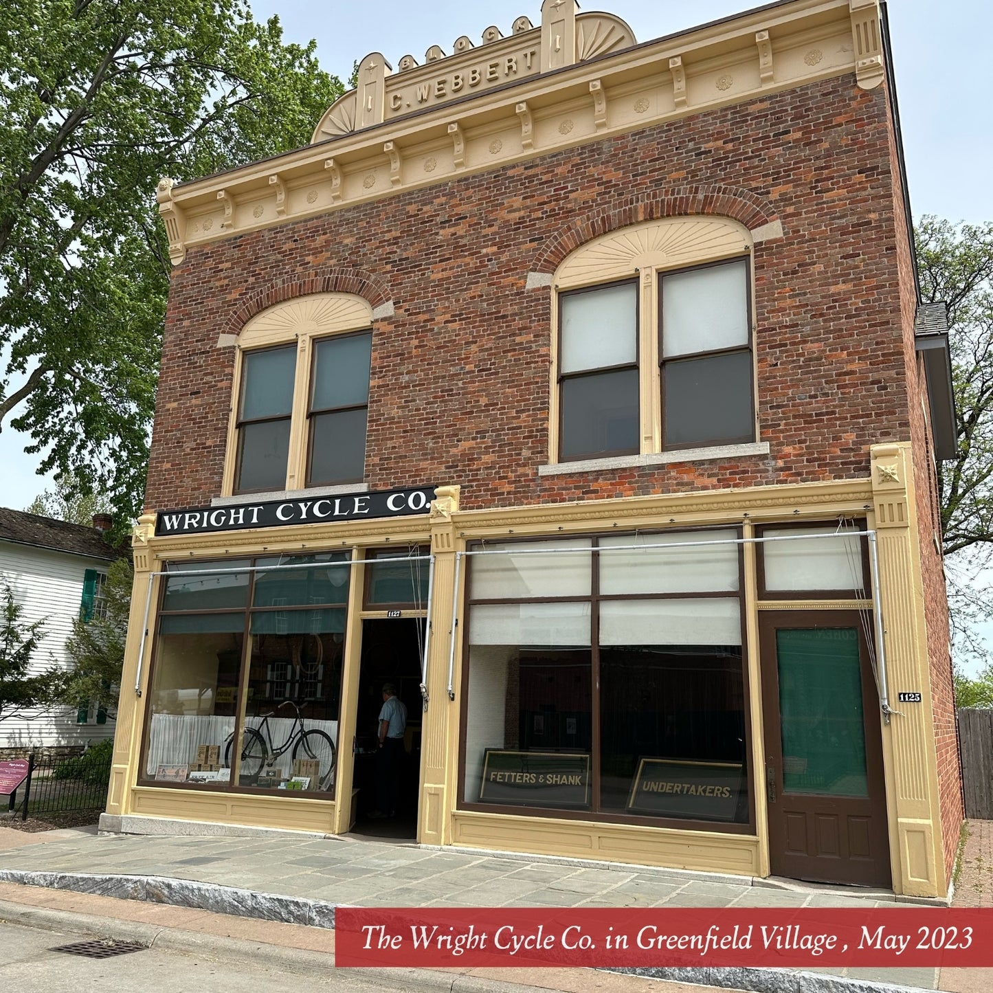
[{"label": "cream fan-arched trim of upper window above Wright Cycle Co. sign", "polygon": [[237,462],[237,411],[241,397],[241,354],[278,345],[297,345],[293,385],[293,414],[290,421],[290,452],[286,466],[286,490],[301,490],[307,479],[307,403],[310,398],[311,353],[317,339],[362,331],[372,326],[372,306],[352,293],[314,293],[295,297],[256,314],[238,335],[237,359],[231,381],[231,404],[227,423],[227,445],[220,496],[234,496],[234,467]]}]

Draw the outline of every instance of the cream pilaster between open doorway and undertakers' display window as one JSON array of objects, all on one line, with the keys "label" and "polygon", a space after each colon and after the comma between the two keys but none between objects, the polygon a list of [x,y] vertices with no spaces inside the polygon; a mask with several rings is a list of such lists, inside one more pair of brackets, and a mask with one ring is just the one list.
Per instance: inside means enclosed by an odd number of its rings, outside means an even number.
[{"label": "cream pilaster between open doorway and undertakers' display window", "polygon": [[423,714],[421,738],[421,800],[417,839],[426,845],[452,840],[449,809],[454,806],[458,749],[458,699],[448,695],[448,657],[452,628],[452,595],[455,586],[456,533],[454,514],[459,509],[459,487],[439,487],[431,503],[431,553],[435,557],[434,586],[429,623],[428,705]]}]

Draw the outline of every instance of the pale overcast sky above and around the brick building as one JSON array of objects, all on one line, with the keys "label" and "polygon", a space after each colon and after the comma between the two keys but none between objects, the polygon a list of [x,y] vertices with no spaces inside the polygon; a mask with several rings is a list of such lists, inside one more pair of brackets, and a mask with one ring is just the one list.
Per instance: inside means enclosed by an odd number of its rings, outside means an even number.
[{"label": "pale overcast sky above and around the brick building", "polygon": [[[327,71],[347,79],[353,63],[380,52],[394,68],[404,55],[424,52],[468,35],[479,43],[492,24],[510,34],[514,18],[540,23],[540,0],[377,0],[315,3],[255,0],[256,17],[278,14],[289,41],[318,42]],[[581,4],[624,18],[639,42],[728,17],[750,6],[742,0],[608,0]],[[935,213],[952,220],[993,219],[990,183],[991,123],[989,0],[892,0],[889,5],[904,147],[915,217]],[[153,196],[154,191],[149,191]],[[50,481],[35,475],[40,456],[23,452],[28,439],[9,423],[0,433],[0,505],[23,508]]]}]

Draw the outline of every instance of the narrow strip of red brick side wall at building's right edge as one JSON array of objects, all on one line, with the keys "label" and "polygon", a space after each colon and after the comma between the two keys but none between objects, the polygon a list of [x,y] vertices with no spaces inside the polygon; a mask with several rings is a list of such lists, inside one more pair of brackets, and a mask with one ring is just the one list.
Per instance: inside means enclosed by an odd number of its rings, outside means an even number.
[{"label": "narrow strip of red brick side wall at building's right edge", "polygon": [[[908,368],[907,402],[911,420],[911,444],[914,453],[914,476],[917,490],[918,539],[921,549],[922,595],[927,631],[927,658],[930,671],[931,712],[934,722],[934,745],[937,758],[941,839],[944,851],[945,878],[951,878],[958,834],[965,811],[962,806],[961,768],[958,753],[958,726],[955,718],[954,684],[951,672],[951,645],[948,631],[948,599],[945,592],[944,565],[934,538],[940,541],[941,516],[934,469],[934,444],[930,431],[927,384],[923,365],[914,340],[917,315],[917,291],[914,263],[904,210],[903,189],[896,144],[891,140],[893,162],[894,215],[896,218],[897,260],[900,268],[901,305],[905,354]],[[899,707],[899,704],[895,704]]]}]

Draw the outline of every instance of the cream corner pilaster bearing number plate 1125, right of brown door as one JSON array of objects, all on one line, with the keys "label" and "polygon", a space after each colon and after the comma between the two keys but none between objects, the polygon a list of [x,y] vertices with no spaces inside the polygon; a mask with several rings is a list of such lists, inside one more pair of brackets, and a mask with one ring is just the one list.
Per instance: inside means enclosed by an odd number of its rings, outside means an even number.
[{"label": "cream corner pilaster bearing number plate 1125, right of brown door", "polygon": [[[947,881],[909,442],[872,447],[872,488],[880,571],[876,592],[885,628],[890,705],[902,712],[883,728],[893,885],[897,893],[943,897]],[[898,703],[901,691],[920,692],[922,702]]]}]

